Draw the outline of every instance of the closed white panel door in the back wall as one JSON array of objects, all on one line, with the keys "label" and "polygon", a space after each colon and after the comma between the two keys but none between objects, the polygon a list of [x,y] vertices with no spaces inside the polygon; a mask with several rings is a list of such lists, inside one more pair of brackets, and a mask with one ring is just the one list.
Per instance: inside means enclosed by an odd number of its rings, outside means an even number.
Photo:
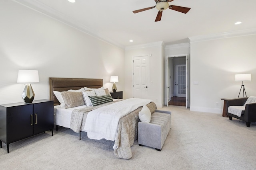
[{"label": "closed white panel door in the back wall", "polygon": [[148,56],[134,57],[133,97],[148,99]]}]

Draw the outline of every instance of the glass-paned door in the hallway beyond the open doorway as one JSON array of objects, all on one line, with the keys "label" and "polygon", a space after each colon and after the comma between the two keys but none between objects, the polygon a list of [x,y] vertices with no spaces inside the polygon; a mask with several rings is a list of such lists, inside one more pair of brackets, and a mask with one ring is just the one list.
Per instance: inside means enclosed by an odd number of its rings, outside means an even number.
[{"label": "glass-paned door in the hallway beyond the open doorway", "polygon": [[176,96],[186,97],[186,65],[176,67]]}]

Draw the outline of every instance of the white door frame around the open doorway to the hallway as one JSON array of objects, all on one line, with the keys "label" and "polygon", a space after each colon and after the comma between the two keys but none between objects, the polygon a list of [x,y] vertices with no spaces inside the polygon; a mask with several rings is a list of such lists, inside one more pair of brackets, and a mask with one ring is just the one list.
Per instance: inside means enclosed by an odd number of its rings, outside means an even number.
[{"label": "white door frame around the open doorway to the hallway", "polygon": [[[172,57],[185,57],[186,60],[186,108],[188,108],[188,93],[190,93],[190,91],[188,90],[188,54],[180,54],[180,55],[166,55],[166,106],[168,107],[168,100],[169,100],[169,96],[170,96],[170,92],[168,93],[168,88],[172,89],[172,84],[168,84],[168,71],[170,70],[170,68],[172,68],[172,66],[168,65],[168,58],[172,58]],[[173,78],[172,78],[173,79]]]}]

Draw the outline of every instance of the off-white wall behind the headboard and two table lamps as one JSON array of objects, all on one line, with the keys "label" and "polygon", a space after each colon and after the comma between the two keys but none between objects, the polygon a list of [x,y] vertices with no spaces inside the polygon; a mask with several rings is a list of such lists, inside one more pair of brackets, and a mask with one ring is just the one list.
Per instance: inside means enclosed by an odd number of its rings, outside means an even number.
[{"label": "off-white wall behind the headboard and two table lamps", "polygon": [[39,71],[35,100],[49,98],[49,77],[102,78],[124,90],[124,49],[10,0],[0,1],[0,104],[23,102],[19,69]]}]

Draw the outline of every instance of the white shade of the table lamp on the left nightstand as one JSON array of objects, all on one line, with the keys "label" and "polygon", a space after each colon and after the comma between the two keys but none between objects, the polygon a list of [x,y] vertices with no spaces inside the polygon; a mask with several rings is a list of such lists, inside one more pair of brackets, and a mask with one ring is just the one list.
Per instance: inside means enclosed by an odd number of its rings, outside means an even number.
[{"label": "white shade of the table lamp on the left nightstand", "polygon": [[19,70],[17,83],[38,83],[38,70]]}]

